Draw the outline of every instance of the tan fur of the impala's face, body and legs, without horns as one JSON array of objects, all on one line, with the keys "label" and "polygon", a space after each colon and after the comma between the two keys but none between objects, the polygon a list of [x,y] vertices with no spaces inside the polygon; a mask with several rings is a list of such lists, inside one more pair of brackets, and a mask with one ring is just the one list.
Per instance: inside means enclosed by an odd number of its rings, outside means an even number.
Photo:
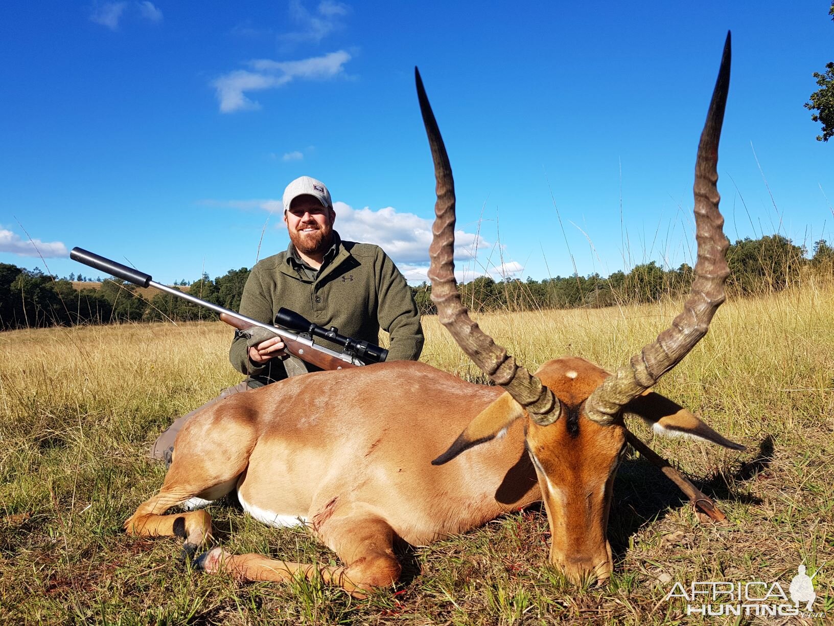
[{"label": "tan fur of the impala's face, body and legs, without horns", "polygon": [[[563,405],[560,419],[547,427],[532,422],[500,387],[412,361],[296,376],[230,396],[183,427],[162,489],[125,528],[171,536],[174,520],[184,517],[187,543],[204,543],[207,513],[163,513],[237,486],[241,502],[306,519],[344,567],[218,548],[205,559],[208,571],[276,581],[320,573],[363,595],[399,577],[396,541],[430,543],[544,499],[550,560],[574,580],[604,580],[611,571],[605,538],[611,485],[625,429],[591,422],[582,407],[607,374],[568,357],[548,361],[536,376]],[[644,396],[630,410],[651,413],[657,398]],[[492,438],[502,430],[505,437]],[[431,464],[450,442],[474,441],[483,442]]]}]

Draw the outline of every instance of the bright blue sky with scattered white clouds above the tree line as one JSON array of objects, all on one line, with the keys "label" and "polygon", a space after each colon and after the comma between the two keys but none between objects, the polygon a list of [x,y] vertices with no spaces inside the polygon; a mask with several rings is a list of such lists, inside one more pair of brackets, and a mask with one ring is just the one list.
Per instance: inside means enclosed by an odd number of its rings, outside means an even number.
[{"label": "bright blue sky with scattered white clouds above the tree line", "polygon": [[829,6],[3,3],[0,262],[45,270],[31,237],[58,275],[97,274],[76,245],[162,282],[251,267],[286,248],[271,210],[308,174],[345,239],[419,282],[419,65],[455,171],[459,279],[676,267],[728,29],[726,234],[810,248],[834,240],[834,144],[802,108],[834,60]]}]

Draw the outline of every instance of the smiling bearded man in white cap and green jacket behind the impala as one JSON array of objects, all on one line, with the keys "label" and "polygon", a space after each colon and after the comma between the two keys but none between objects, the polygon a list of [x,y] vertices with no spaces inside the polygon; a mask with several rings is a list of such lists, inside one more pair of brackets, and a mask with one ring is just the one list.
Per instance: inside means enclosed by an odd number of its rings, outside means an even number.
[{"label": "smiling bearded man in white cap and green jacket behind the impala", "polygon": [[[240,313],[272,324],[283,306],[309,321],[354,339],[379,343],[388,331],[386,361],[416,361],[423,350],[420,315],[411,291],[394,262],[379,246],[343,241],[333,230],[336,219],[330,192],[319,180],[302,176],[284,190],[285,252],[257,263],[244,285]],[[284,342],[268,331],[236,332],[229,361],[247,379],[229,387],[196,411],[179,417],[157,439],[151,456],[170,462],[173,440],[183,424],[203,407],[249,388],[318,368],[284,352]],[[342,346],[316,339],[341,351]]]}]

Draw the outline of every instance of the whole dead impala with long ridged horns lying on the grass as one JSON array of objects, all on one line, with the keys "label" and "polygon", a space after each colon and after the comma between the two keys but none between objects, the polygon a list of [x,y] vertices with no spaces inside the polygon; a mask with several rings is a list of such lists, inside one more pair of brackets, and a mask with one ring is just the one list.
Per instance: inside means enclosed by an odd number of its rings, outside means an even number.
[{"label": "whole dead impala with long ridged horns lying on the grass", "polygon": [[697,263],[683,312],[614,374],[563,357],[531,376],[461,304],[452,261],[452,173],[417,73],[437,184],[432,299],[440,321],[496,386],[399,361],[296,376],[236,394],[183,427],[163,487],[128,519],[128,532],[177,536],[193,553],[210,538],[208,512],[164,513],[236,490],[252,517],[306,525],[343,564],[214,548],[198,558],[199,567],[272,581],[320,575],[361,596],[398,579],[395,541],[448,538],[543,500],[550,561],[571,580],[605,581],[612,569],[606,528],[616,468],[627,441],[641,445],[624,416],[641,416],[661,434],[744,449],[651,391],[706,334],[724,300],[729,270],[716,163],[729,74],[728,33],[696,159]]}]

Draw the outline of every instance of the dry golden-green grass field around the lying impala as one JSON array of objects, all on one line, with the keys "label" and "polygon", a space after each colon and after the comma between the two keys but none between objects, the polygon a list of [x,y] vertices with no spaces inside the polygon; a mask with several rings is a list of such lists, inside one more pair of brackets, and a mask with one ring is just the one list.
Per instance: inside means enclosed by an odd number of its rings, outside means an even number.
[{"label": "dry golden-green grass field around the lying impala", "polygon": [[[671,321],[679,302],[480,316],[530,369],[574,354],[613,368]],[[434,318],[423,360],[481,380]],[[320,583],[239,583],[190,571],[177,541],[122,523],[163,480],[145,455],[173,416],[239,381],[227,326],[54,328],[0,333],[0,620],[6,623],[728,623],[686,617],[675,582],[779,582],[820,568],[814,608],[834,619],[834,286],[730,301],[658,391],[696,411],[738,453],[651,445],[726,512],[701,521],[632,455],[615,483],[615,573],[576,588],[546,565],[543,509],[501,517],[403,555],[404,582],[366,600]],[[632,425],[645,440],[651,433]],[[329,562],[304,529],[266,528],[233,502],[210,508],[234,552]],[[770,618],[811,623],[825,618]],[[756,623],[734,618],[729,623]],[[775,620],[775,621],[774,621]],[[781,621],[780,621],[781,620]]]}]

